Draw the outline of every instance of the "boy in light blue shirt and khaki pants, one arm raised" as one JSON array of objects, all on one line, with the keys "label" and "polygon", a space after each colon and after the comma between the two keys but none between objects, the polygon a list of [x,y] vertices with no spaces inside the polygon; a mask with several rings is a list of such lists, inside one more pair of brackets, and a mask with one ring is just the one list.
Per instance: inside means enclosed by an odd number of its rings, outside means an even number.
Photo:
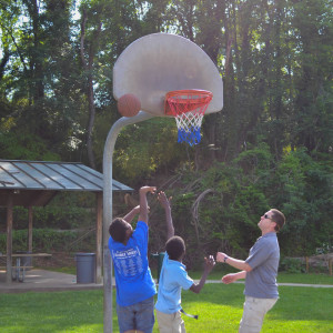
[{"label": "boy in light blue shirt and khaki pants, one arm raised", "polygon": [[181,317],[181,291],[191,290],[200,293],[209,273],[215,265],[214,258],[204,259],[204,272],[196,284],[188,275],[186,266],[182,264],[185,255],[185,243],[182,238],[174,235],[170,202],[164,192],[160,192],[158,199],[165,211],[168,241],[167,253],[160,273],[158,302],[155,304],[157,319],[161,333],[185,332],[185,325]]}]

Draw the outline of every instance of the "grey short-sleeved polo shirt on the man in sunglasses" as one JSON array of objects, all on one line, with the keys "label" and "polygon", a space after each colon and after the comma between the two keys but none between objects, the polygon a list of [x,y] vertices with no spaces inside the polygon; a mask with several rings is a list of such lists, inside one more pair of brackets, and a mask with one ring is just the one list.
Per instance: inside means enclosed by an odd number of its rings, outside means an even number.
[{"label": "grey short-sleeved polo shirt on the man in sunglasses", "polygon": [[256,299],[278,299],[276,275],[280,260],[280,248],[275,232],[266,233],[258,239],[250,249],[245,262],[252,271],[246,272],[246,296]]}]

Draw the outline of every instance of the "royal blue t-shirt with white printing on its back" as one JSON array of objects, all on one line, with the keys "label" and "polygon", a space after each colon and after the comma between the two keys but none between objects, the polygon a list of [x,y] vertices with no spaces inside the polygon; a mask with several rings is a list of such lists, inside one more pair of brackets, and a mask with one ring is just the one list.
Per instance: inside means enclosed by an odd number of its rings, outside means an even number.
[{"label": "royal blue t-shirt with white printing on its back", "polygon": [[148,225],[139,221],[127,245],[110,236],[109,250],[113,260],[117,303],[129,306],[157,293],[157,286],[148,265]]}]

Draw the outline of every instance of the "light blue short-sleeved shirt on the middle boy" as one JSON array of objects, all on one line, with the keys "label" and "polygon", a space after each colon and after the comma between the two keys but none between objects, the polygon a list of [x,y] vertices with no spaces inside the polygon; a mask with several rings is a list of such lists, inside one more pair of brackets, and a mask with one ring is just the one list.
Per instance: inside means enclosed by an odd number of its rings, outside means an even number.
[{"label": "light blue short-sleeved shirt on the middle boy", "polygon": [[165,252],[155,309],[169,314],[180,311],[182,289],[189,290],[192,284],[193,280],[188,275],[186,266],[169,259]]}]

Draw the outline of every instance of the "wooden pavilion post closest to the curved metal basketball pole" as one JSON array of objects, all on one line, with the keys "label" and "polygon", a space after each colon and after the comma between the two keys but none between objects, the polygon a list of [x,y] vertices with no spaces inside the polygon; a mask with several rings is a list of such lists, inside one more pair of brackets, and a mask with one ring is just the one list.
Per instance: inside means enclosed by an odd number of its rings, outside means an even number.
[{"label": "wooden pavilion post closest to the curved metal basketball pole", "polygon": [[95,194],[95,283],[102,283],[103,193]]}]

